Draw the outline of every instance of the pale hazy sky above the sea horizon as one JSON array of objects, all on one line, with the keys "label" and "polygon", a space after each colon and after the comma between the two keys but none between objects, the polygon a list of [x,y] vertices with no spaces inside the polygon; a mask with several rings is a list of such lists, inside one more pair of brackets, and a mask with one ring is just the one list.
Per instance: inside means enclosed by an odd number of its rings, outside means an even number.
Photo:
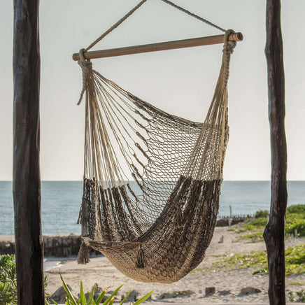
[{"label": "pale hazy sky above the sea horizon", "polygon": [[[172,0],[244,41],[232,55],[229,145],[224,180],[271,175],[265,6],[262,0]],[[282,1],[288,180],[305,180],[304,0]],[[41,0],[41,179],[82,180],[84,104],[71,55],[86,48],[139,0]],[[93,50],[222,34],[161,0],[148,0]],[[13,171],[13,1],[0,10],[0,180]],[[222,45],[94,59],[94,69],[174,115],[202,122],[213,95]]]}]

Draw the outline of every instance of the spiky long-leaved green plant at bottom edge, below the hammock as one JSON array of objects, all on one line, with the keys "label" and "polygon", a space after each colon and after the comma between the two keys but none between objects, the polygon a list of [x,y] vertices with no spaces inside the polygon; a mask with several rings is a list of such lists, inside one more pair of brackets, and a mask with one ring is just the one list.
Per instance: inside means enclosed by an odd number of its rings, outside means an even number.
[{"label": "spiky long-leaved green plant at bottom edge, below the hammock", "polygon": [[[101,295],[99,295],[99,297],[97,297],[97,299],[94,301],[94,293],[95,293],[95,290],[97,290],[97,284],[95,284],[92,287],[91,292],[89,292],[88,298],[86,299],[85,293],[84,293],[84,290],[83,290],[83,282],[80,282],[80,299],[78,299],[78,301],[76,302],[76,299],[73,297],[73,295],[71,294],[71,291],[69,290],[68,286],[64,282],[64,278],[62,278],[62,275],[60,275],[60,278],[62,279],[62,286],[64,287],[64,290],[66,291],[66,294],[67,294],[66,305],[78,305],[78,304],[80,304],[80,305],[99,305],[99,304],[101,304],[102,299],[104,298],[104,296],[105,296],[105,294],[107,292],[107,290],[104,290],[103,292],[101,292]],[[118,287],[111,294],[111,296],[109,296],[106,299],[106,301],[103,303],[103,305],[112,305],[113,302],[114,302],[114,296],[117,294],[117,292],[120,290],[120,288],[122,288],[122,285],[120,287]],[[127,297],[129,296],[130,292],[132,292],[132,290],[129,290],[129,292],[127,293],[126,297],[124,299],[122,299],[122,302],[120,302],[120,304],[124,304],[124,302],[126,301]],[[148,295],[145,295],[144,297],[142,297],[138,301],[134,302],[134,305],[141,304],[146,299],[148,299],[148,297],[150,297],[150,295],[152,295],[152,292],[148,293]],[[53,302],[55,304],[57,304],[54,300],[53,300]]]}]

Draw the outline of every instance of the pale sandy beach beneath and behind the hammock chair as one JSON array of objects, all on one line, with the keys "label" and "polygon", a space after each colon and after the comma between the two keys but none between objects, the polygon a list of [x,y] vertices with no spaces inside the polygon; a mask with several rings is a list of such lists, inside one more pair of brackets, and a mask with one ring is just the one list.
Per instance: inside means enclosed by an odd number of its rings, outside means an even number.
[{"label": "pale sandy beach beneath and behind the hammock chair", "polygon": [[[223,243],[219,243],[223,236]],[[231,271],[212,270],[213,262],[219,260],[220,255],[235,253],[250,253],[265,250],[263,241],[251,243],[237,241],[239,234],[228,231],[228,227],[216,227],[213,240],[207,250],[206,258],[195,271],[172,284],[139,283],[127,278],[108,262],[106,257],[93,257],[87,265],[79,265],[76,260],[63,262],[62,266],[45,271],[48,276],[48,292],[51,294],[61,286],[59,270],[68,283],[74,295],[78,295],[80,281],[84,289],[90,290],[94,283],[101,288],[114,290],[124,285],[118,293],[118,301],[130,289],[134,290],[136,298],[154,290],[151,302],[188,303],[188,304],[268,304],[268,275],[253,275],[254,269],[240,269]],[[285,246],[296,246],[304,243],[304,238],[285,241]],[[295,282],[305,282],[305,274],[286,277],[286,291],[301,290],[305,285],[292,285]],[[253,287],[261,290],[259,293],[241,294],[241,288]],[[215,287],[215,294],[206,296],[206,288]]]}]

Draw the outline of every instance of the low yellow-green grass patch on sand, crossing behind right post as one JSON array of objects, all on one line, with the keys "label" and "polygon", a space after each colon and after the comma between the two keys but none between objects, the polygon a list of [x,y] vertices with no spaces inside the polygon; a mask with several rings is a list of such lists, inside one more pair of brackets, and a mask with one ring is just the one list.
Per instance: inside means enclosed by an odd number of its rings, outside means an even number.
[{"label": "low yellow-green grass patch on sand, crossing behind right post", "polygon": [[[286,275],[305,273],[305,243],[299,246],[288,247],[285,251]],[[268,273],[267,251],[246,254],[234,254],[223,257],[213,263],[212,270],[229,271],[233,269],[255,268],[252,274]],[[210,271],[212,271],[210,270]]]}]

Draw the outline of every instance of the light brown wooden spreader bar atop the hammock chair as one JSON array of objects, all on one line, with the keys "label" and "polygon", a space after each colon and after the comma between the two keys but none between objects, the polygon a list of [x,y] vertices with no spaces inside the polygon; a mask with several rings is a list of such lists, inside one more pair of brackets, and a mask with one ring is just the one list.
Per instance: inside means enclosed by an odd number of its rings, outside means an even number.
[{"label": "light brown wooden spreader bar atop the hammock chair", "polygon": [[[163,50],[173,50],[180,48],[198,47],[200,45],[215,45],[217,43],[223,43],[225,35],[215,35],[199,38],[183,39],[179,41],[166,41],[163,43],[151,43],[148,45],[133,45],[125,48],[116,48],[99,51],[84,52],[85,59],[104,58],[104,57],[115,57],[122,55],[131,55],[146,52],[155,52]],[[243,34],[232,33],[229,35],[229,41],[242,41]],[[72,55],[73,60],[79,60],[79,53]]]}]

